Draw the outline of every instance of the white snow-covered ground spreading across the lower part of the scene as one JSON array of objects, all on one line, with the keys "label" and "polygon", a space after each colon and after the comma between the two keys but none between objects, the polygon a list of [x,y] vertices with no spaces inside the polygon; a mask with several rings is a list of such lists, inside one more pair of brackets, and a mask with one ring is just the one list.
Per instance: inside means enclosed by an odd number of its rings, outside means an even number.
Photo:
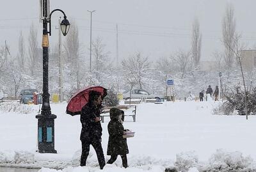
[{"label": "white snow-covered ground spreading across the lower part of the scene", "polygon": [[[256,170],[253,161],[256,159],[256,116],[246,120],[245,116],[212,114],[218,104],[220,102],[212,101],[139,104],[136,122],[127,117],[124,123],[126,129],[136,132],[135,137],[127,139],[129,168],[121,168],[118,157],[115,164],[108,164],[103,171],[155,172],[168,167],[189,172],[212,168]],[[58,116],[55,120],[58,153],[44,154],[36,153],[35,115],[39,106],[0,104],[0,166],[45,167],[40,169],[44,172],[100,171],[93,148],[88,167],[79,167],[81,123],[79,115],[65,113],[66,106],[67,103],[51,104],[52,113]],[[102,123],[104,153],[109,119],[105,121]]]}]

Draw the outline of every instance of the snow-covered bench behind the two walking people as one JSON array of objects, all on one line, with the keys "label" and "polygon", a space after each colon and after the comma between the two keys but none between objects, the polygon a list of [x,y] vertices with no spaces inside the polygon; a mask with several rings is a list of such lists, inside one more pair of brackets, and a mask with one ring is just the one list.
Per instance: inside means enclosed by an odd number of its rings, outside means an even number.
[{"label": "snow-covered bench behind the two walking people", "polygon": [[101,118],[102,123],[104,123],[104,117],[109,116],[109,110],[110,110],[112,107],[115,107],[115,108],[121,109],[121,110],[127,110],[127,109],[129,109],[129,108],[134,108],[134,110],[132,110],[132,114],[125,114],[125,113],[124,113],[124,116],[132,116],[133,121],[134,121],[134,122],[136,121],[136,108],[137,108],[136,105],[104,106],[104,109],[103,109],[102,113],[100,114],[100,118]]}]

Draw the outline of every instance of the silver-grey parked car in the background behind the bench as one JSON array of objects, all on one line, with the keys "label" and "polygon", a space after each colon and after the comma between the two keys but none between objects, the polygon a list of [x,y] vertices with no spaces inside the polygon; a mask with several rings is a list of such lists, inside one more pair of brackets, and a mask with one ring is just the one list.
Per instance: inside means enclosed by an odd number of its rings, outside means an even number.
[{"label": "silver-grey parked car in the background behind the bench", "polygon": [[156,94],[150,94],[148,91],[143,89],[133,89],[131,90],[131,96],[130,96],[130,90],[126,90],[123,93],[123,98],[125,100],[128,100],[129,98],[157,98],[161,99],[162,97]]}]

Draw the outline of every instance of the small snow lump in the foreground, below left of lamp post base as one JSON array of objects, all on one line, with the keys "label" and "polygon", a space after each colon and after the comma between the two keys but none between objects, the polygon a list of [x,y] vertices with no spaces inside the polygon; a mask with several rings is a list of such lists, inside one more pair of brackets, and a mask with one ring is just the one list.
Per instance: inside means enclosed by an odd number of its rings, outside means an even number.
[{"label": "small snow lump in the foreground, below left of lamp post base", "polygon": [[33,164],[34,161],[35,161],[34,153],[30,153],[27,151],[19,151],[19,152],[15,151],[15,155],[14,155],[15,164],[19,164],[19,163]]}]

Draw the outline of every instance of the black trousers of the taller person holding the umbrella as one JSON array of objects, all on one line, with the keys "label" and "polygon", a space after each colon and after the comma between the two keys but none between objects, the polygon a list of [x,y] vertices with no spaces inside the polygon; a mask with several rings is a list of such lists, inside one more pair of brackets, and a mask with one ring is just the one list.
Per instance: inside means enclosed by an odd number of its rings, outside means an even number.
[{"label": "black trousers of the taller person holding the umbrella", "polygon": [[81,166],[86,166],[86,159],[90,152],[90,145],[93,146],[97,154],[99,161],[100,169],[103,169],[105,166],[105,158],[102,150],[100,140],[92,139],[90,141],[82,141],[82,155],[81,155]]}]

